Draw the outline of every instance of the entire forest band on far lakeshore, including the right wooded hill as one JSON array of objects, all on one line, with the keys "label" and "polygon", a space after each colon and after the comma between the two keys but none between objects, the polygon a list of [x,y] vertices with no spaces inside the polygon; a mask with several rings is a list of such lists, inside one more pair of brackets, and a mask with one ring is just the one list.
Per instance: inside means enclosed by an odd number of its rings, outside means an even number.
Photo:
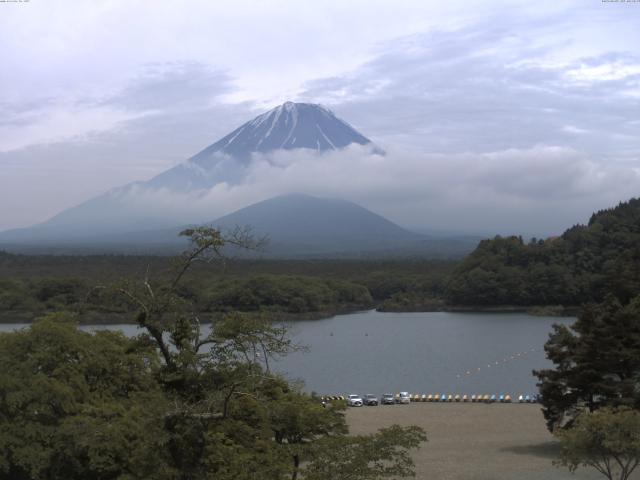
[{"label": "entire forest band on far lakeshore, including the right wooded hill", "polygon": [[[171,259],[126,255],[18,255],[0,252],[0,321],[56,311],[83,322],[130,321],[131,311],[101,298],[102,285],[152,273]],[[195,265],[181,295],[210,319],[229,311],[316,318],[377,308],[431,311],[540,307],[575,313],[613,294],[640,292],[640,200],[591,216],[561,236],[483,240],[464,260],[273,260],[230,258]],[[107,306],[105,306],[107,305]]]}]

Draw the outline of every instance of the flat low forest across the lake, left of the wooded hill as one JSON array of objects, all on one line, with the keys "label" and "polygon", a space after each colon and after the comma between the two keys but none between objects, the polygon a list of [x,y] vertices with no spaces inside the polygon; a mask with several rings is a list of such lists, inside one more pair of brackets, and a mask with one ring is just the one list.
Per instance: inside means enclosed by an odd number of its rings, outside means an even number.
[{"label": "flat low forest across the lake, left of the wooded hill", "polygon": [[[380,308],[441,306],[451,261],[247,260],[195,265],[180,287],[195,308],[215,316],[231,310],[299,318]],[[31,320],[71,311],[85,322],[131,321],[127,304],[105,301],[100,288],[122,278],[162,277],[171,261],[157,256],[15,255],[0,252],[0,320]]]}]

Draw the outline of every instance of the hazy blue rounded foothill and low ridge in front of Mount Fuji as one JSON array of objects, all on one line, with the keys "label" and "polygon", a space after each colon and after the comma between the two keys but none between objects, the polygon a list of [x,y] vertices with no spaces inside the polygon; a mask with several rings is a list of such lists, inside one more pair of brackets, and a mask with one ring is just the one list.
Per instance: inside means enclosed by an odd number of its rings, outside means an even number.
[{"label": "hazy blue rounded foothill and low ridge in front of Mount Fuji", "polygon": [[[257,238],[267,238],[260,251],[233,250],[230,255],[266,258],[455,257],[475,248],[479,237],[435,237],[406,230],[356,203],[305,194],[264,200],[214,221],[205,222],[224,232],[249,227]],[[187,247],[179,233],[188,225],[157,230],[64,238],[51,242],[22,242],[14,251],[61,253],[175,254]],[[45,242],[46,243],[46,242]],[[25,248],[26,247],[26,248]]]}]

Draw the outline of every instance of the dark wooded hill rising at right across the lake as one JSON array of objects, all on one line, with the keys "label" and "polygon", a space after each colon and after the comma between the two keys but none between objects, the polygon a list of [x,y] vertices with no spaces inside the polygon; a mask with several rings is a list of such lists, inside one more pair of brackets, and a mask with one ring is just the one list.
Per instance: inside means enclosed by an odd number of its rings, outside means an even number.
[{"label": "dark wooded hill rising at right across the lake", "polygon": [[445,298],[455,305],[621,302],[640,293],[640,199],[591,216],[560,237],[484,240],[454,270]]}]

